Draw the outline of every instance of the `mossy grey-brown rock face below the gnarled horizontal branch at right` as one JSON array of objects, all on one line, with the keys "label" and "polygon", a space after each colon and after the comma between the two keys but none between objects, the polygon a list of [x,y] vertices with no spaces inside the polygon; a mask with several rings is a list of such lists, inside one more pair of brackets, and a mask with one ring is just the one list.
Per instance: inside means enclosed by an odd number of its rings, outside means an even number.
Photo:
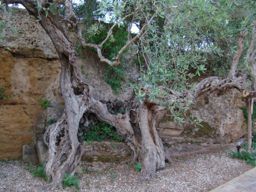
[{"label": "mossy grey-brown rock face below the gnarled horizontal branch at right", "polygon": [[186,121],[178,124],[172,115],[165,111],[160,114],[163,118],[157,122],[157,130],[167,143],[190,142],[199,143],[228,143],[244,135],[243,111],[237,107],[246,106],[238,90],[229,90],[222,95],[211,93],[198,97],[189,110],[194,118],[201,118],[201,126]]}]

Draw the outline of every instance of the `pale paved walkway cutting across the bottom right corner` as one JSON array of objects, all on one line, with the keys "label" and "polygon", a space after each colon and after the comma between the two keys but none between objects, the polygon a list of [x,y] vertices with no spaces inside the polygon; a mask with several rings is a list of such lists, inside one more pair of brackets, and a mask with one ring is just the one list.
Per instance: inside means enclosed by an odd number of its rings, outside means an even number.
[{"label": "pale paved walkway cutting across the bottom right corner", "polygon": [[218,186],[211,192],[256,192],[256,168],[243,173],[225,184]]}]

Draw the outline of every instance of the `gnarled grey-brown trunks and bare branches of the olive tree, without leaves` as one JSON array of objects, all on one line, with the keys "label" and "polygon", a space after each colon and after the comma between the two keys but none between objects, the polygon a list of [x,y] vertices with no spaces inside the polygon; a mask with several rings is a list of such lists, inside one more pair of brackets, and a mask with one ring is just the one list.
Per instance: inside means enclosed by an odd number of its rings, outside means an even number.
[{"label": "gnarled grey-brown trunks and bare branches of the olive tree, without leaves", "polygon": [[[127,144],[134,151],[133,160],[138,159],[142,164],[141,170],[141,180],[150,180],[155,176],[156,170],[162,169],[165,167],[164,160],[168,159],[168,154],[164,152],[163,143],[159,138],[156,130],[156,111],[157,111],[157,102],[150,102],[145,100],[143,104],[136,103],[131,108],[127,109],[124,115],[111,115],[108,112],[105,104],[102,104],[99,100],[93,99],[90,94],[90,89],[88,84],[84,84],[81,78],[81,74],[78,70],[76,64],[76,52],[70,40],[65,35],[65,30],[61,22],[67,22],[70,25],[70,28],[77,31],[77,37],[79,38],[81,44],[84,47],[93,47],[97,49],[99,58],[101,61],[108,63],[109,65],[118,65],[120,63],[120,55],[122,51],[126,49],[132,42],[140,38],[143,35],[143,31],[147,28],[148,23],[152,22],[154,17],[145,24],[138,35],[136,35],[132,40],[129,40],[127,44],[118,52],[116,60],[111,62],[108,59],[104,58],[101,54],[102,44],[86,44],[81,36],[81,29],[79,28],[79,21],[77,20],[74,12],[72,11],[72,4],[68,0],[57,0],[52,1],[42,1],[41,6],[44,8],[49,7],[49,3],[54,3],[57,6],[57,3],[64,4],[66,6],[66,17],[63,18],[56,9],[56,15],[49,13],[46,17],[45,11],[41,12],[35,8],[33,1],[29,0],[10,0],[6,3],[20,3],[29,14],[33,15],[36,19],[40,16],[39,23],[45,29],[46,33],[50,36],[58,56],[61,61],[61,77],[60,77],[60,86],[63,99],[65,101],[65,111],[63,116],[56,122],[47,128],[47,131],[44,135],[45,144],[49,147],[49,159],[46,164],[45,172],[47,175],[51,176],[52,182],[47,186],[43,186],[39,191],[47,190],[51,188],[56,188],[57,186],[62,186],[62,179],[65,173],[74,173],[77,163],[81,157],[81,150],[79,147],[79,141],[77,139],[77,131],[79,127],[79,122],[86,112],[95,113],[97,118],[102,122],[108,122],[108,124],[116,127],[116,130],[121,134]],[[138,12],[134,10],[134,12]],[[128,16],[134,15],[132,12]],[[40,13],[40,14],[39,14]],[[121,21],[121,20],[120,20]],[[118,22],[120,22],[118,21]],[[116,22],[115,25],[118,24]],[[110,32],[111,33],[111,32]],[[243,51],[243,42],[246,34],[239,36],[239,50]],[[109,35],[106,40],[108,40]],[[106,42],[104,40],[104,42]],[[237,51],[241,52],[241,51]],[[244,76],[239,74],[236,71],[237,62],[239,56],[234,58],[232,63],[232,68],[230,70],[230,75],[227,79],[219,81],[218,77],[209,77],[204,79],[202,82],[198,83],[195,91],[188,92],[184,95],[187,95],[189,99],[195,99],[198,95],[204,92],[213,92],[213,91],[223,91],[228,88],[237,88],[240,91],[244,90],[243,79]],[[170,93],[170,98],[173,100],[179,100],[181,103],[184,102],[183,94],[172,92]],[[247,97],[256,97],[256,92],[248,92]],[[138,122],[141,130],[141,141],[137,141],[134,136],[134,131],[131,126],[130,112],[131,110],[136,111],[138,114]]]}]

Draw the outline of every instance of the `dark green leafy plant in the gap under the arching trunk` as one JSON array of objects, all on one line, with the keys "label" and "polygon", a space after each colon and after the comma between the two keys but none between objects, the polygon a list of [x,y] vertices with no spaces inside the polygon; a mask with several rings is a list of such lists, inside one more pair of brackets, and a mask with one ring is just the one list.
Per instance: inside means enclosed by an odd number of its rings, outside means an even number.
[{"label": "dark green leafy plant in the gap under the arching trunk", "polygon": [[[109,138],[116,141],[122,141],[123,138],[113,129],[113,126],[107,123],[98,123],[95,125],[89,125],[88,128],[90,131],[85,131],[84,136],[81,136],[81,139],[84,141],[98,141],[101,142],[105,138]],[[82,128],[83,129],[83,128]]]}]

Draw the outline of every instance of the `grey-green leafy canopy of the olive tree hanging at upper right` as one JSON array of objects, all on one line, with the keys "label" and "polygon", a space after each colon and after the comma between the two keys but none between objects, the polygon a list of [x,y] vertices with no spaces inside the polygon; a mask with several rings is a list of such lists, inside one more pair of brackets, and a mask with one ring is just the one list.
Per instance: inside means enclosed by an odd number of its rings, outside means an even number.
[{"label": "grey-green leafy canopy of the olive tree hanging at upper right", "polygon": [[[133,21],[144,30],[132,45],[141,69],[139,83],[132,87],[136,98],[141,103],[146,99],[143,88],[148,84],[149,100],[167,104],[175,120],[182,122],[193,103],[184,95],[195,88],[191,78],[207,68],[223,66],[225,71],[230,67],[227,61],[236,52],[239,32],[252,22],[255,1],[102,1],[100,13],[108,10],[116,20],[136,10],[134,20],[128,17],[123,22]],[[244,15],[244,10],[250,14]],[[210,66],[209,59],[218,63]],[[183,94],[182,102],[173,93]]]}]

